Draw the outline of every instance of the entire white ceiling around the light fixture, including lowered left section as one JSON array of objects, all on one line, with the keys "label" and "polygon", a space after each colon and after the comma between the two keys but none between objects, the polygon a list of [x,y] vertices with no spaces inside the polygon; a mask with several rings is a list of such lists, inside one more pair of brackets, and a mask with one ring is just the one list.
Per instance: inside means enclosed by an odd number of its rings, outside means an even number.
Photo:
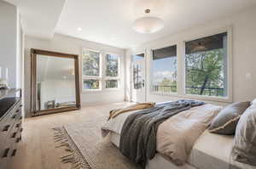
[{"label": "entire white ceiling around the light fixture, including lowered left section", "polygon": [[[65,0],[9,1],[20,7],[28,35],[51,37],[55,32],[119,48],[165,37],[256,4],[255,0],[66,0],[62,8]],[[165,21],[163,30],[141,34],[131,29],[145,8]]]}]

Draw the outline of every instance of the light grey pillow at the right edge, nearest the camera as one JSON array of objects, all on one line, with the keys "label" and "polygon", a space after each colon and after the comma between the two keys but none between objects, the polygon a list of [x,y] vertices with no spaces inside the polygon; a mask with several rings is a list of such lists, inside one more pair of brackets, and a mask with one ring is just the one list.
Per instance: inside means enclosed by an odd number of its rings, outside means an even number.
[{"label": "light grey pillow at the right edge, nearest the camera", "polygon": [[235,161],[256,166],[256,104],[252,104],[238,121],[232,157]]}]

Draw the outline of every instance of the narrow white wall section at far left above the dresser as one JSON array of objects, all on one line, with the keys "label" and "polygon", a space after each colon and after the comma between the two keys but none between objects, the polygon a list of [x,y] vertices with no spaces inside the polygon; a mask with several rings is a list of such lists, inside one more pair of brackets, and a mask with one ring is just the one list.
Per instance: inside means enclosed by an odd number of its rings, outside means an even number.
[{"label": "narrow white wall section at far left above the dresser", "polygon": [[20,87],[16,65],[20,55],[19,23],[18,9],[0,0],[0,66],[9,68],[9,86],[13,88]]}]

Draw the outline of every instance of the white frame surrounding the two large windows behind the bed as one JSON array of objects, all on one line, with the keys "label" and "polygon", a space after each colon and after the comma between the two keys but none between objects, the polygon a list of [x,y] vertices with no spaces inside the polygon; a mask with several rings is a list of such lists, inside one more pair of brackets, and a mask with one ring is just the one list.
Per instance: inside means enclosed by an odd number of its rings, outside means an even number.
[{"label": "white frame surrounding the two large windows behind the bed", "polygon": [[[148,81],[150,84],[149,93],[153,95],[167,95],[172,96],[174,98],[183,98],[183,99],[201,99],[206,101],[212,101],[212,102],[224,102],[224,103],[232,103],[233,102],[233,43],[232,43],[232,26],[228,27],[222,27],[218,28],[212,31],[203,31],[200,34],[189,36],[189,37],[183,37],[180,40],[172,41],[172,42],[166,42],[164,45],[158,45],[154,48],[149,49],[149,75],[150,80]],[[227,78],[227,96],[225,97],[216,97],[216,96],[203,96],[203,95],[195,95],[195,94],[187,94],[185,84],[186,84],[186,68],[185,68],[185,42],[193,41],[199,38],[203,37],[209,37],[213,36],[219,33],[227,32],[227,72],[226,72],[226,78]],[[151,89],[152,84],[152,73],[153,73],[153,50],[158,48],[166,48],[173,45],[177,45],[177,93],[155,93]]]}]

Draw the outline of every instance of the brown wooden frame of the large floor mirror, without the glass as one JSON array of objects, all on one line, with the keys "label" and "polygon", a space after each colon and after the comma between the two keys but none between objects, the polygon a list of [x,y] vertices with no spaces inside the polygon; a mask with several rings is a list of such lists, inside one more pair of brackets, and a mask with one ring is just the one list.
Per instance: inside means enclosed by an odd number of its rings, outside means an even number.
[{"label": "brown wooden frame of the large floor mirror, without the glass", "polygon": [[[75,86],[76,86],[76,104],[69,107],[61,107],[49,110],[37,110],[37,55],[46,55],[60,58],[74,59],[74,70],[75,70]],[[52,113],[59,113],[63,111],[79,110],[80,104],[80,87],[79,87],[79,55],[77,54],[62,54],[40,49],[31,49],[31,114],[36,115],[48,115]]]}]

